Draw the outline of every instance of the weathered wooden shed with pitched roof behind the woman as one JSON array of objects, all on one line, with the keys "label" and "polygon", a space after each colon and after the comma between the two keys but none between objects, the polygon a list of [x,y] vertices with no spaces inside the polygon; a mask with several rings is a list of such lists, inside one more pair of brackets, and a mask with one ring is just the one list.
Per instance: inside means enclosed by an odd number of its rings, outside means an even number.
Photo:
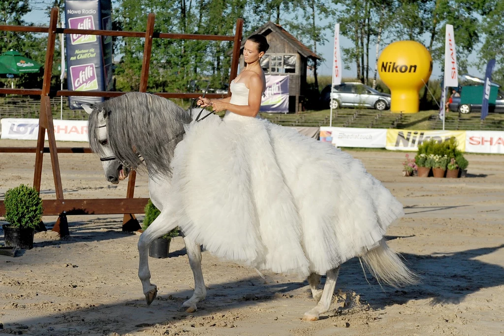
[{"label": "weathered wooden shed with pitched roof behind the woman", "polygon": [[[270,48],[262,58],[261,66],[266,75],[289,76],[289,112],[298,112],[306,93],[306,66],[308,58],[321,59],[282,26],[268,22],[254,34],[266,37]],[[246,65],[243,59],[243,37],[240,49],[240,68]],[[243,69],[243,68],[242,68]]]}]

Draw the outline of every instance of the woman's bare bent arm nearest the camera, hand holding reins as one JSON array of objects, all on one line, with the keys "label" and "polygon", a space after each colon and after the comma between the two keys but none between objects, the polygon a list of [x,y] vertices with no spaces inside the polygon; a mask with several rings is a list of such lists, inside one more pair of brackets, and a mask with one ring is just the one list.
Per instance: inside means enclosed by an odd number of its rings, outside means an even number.
[{"label": "woman's bare bent arm nearest the camera, hand holding reins", "polygon": [[216,112],[229,110],[239,115],[256,117],[259,113],[259,109],[261,108],[261,96],[263,93],[263,82],[261,81],[259,75],[250,77],[248,87],[248,105],[230,104],[229,101],[224,102],[224,99],[213,100],[212,110]]}]

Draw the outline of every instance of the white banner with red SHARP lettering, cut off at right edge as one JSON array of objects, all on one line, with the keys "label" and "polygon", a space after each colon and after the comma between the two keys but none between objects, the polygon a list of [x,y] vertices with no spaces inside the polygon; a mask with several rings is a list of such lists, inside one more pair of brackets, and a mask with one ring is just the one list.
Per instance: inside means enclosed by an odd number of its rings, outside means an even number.
[{"label": "white banner with red SHARP lettering, cut off at right edge", "polygon": [[504,131],[466,130],[466,152],[504,154]]}]

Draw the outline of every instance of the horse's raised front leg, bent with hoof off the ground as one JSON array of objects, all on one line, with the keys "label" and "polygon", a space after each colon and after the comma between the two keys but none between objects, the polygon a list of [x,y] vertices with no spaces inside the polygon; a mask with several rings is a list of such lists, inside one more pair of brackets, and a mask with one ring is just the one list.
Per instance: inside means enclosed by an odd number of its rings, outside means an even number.
[{"label": "horse's raised front leg, bent with hoof off the ground", "polygon": [[[169,209],[169,207],[167,207]],[[177,223],[170,220],[169,212],[167,209],[163,209],[161,214],[154,220],[154,222],[149,225],[149,227],[140,235],[138,240],[138,252],[140,254],[140,264],[138,267],[138,277],[142,281],[142,289],[145,294],[145,299],[147,304],[151,304],[156,298],[157,287],[151,284],[151,272],[149,271],[149,246],[154,241],[164,234],[170,232],[176,228]]]}]

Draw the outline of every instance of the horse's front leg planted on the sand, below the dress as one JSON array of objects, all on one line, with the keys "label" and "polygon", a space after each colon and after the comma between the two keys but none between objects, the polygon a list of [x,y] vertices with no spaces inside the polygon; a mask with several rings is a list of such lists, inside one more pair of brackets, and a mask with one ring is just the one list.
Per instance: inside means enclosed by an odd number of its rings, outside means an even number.
[{"label": "horse's front leg planted on the sand, below the dress", "polygon": [[205,287],[205,280],[203,279],[203,272],[201,271],[201,246],[187,237],[183,238],[187,258],[189,259],[194,276],[194,294],[191,299],[182,303],[182,307],[187,307],[185,311],[192,313],[198,309],[196,304],[207,296],[207,289]]}]

